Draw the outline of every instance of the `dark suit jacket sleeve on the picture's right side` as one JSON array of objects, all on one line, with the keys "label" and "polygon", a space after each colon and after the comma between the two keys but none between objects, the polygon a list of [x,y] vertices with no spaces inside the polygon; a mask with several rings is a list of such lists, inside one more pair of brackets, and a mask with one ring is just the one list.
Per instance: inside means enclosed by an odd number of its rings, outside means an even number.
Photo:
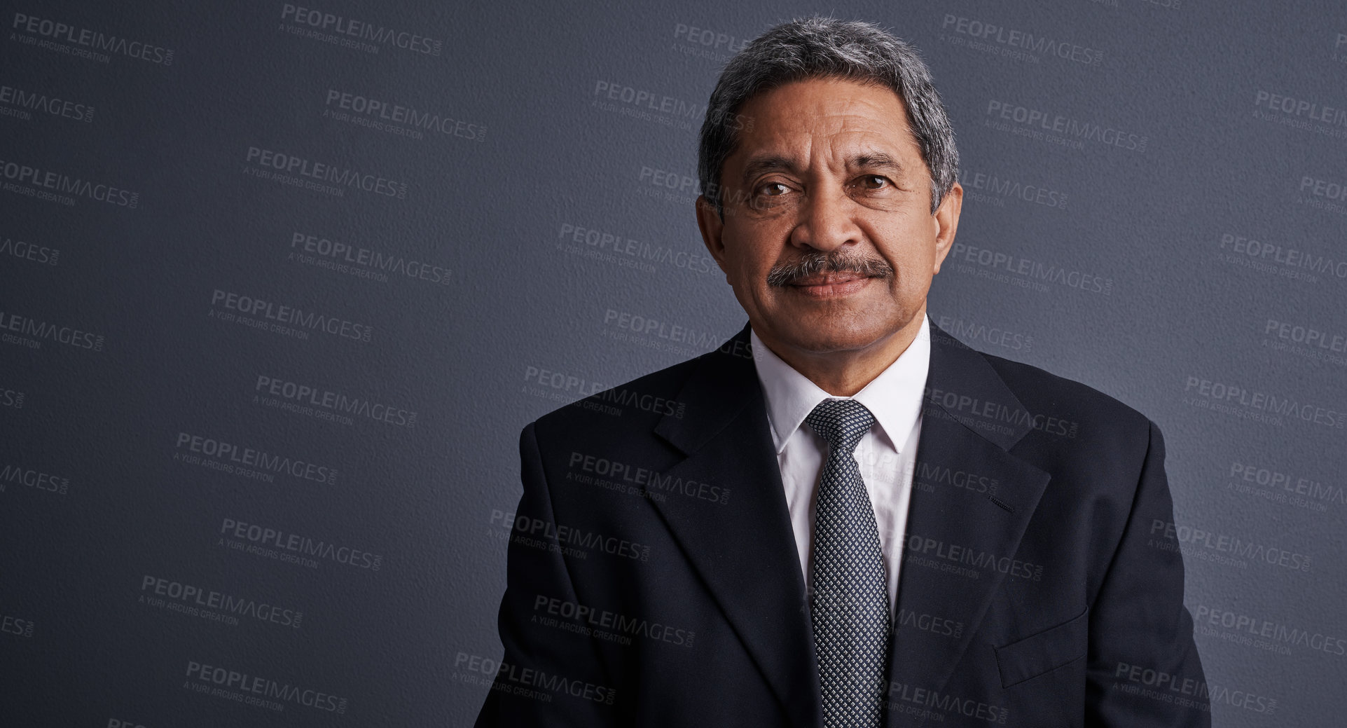
[{"label": "dark suit jacket sleeve on the picture's right side", "polygon": [[1148,425],[1131,512],[1090,607],[1086,725],[1210,728],[1206,675],[1183,604],[1164,438]]}]

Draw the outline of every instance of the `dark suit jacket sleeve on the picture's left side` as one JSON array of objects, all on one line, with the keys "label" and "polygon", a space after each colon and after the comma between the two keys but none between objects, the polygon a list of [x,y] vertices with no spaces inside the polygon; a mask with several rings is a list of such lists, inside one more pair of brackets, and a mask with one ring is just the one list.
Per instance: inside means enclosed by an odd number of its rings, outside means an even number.
[{"label": "dark suit jacket sleeve on the picture's left side", "polygon": [[550,613],[552,607],[579,600],[556,539],[533,423],[520,433],[519,449],[524,495],[515,511],[498,617],[505,657],[475,725],[614,725],[617,694],[593,640],[560,628],[566,620]]}]

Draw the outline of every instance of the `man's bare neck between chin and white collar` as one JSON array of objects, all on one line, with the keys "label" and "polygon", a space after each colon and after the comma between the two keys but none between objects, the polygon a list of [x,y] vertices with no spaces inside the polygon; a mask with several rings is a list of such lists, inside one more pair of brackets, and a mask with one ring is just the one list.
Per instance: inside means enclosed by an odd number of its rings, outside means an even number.
[{"label": "man's bare neck between chin and white collar", "polygon": [[898,360],[925,326],[925,305],[905,326],[859,348],[834,352],[806,352],[762,338],[772,353],[781,357],[820,390],[832,396],[853,396]]}]

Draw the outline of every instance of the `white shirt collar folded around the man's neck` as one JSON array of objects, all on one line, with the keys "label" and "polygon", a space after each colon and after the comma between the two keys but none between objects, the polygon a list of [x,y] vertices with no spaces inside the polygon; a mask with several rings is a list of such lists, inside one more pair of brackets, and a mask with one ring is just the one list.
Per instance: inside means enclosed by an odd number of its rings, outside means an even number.
[{"label": "white shirt collar folded around the man's neck", "polygon": [[921,394],[931,367],[929,317],[923,317],[921,324],[907,351],[854,396],[832,396],[823,391],[768,349],[757,332],[750,328],[753,365],[766,398],[768,422],[772,425],[776,452],[780,453],[785,448],[804,418],[824,399],[859,400],[874,415],[876,425],[888,437],[893,449],[901,452],[921,414]]}]

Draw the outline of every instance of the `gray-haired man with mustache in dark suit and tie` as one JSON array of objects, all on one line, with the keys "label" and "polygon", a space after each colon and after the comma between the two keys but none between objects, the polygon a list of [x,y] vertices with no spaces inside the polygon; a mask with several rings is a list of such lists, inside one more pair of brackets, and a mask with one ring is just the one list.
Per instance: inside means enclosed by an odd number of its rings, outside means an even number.
[{"label": "gray-haired man with mustache in dark suit and tie", "polygon": [[696,220],[748,324],[520,435],[478,725],[1208,725],[1164,442],[927,317],[958,152],[874,26],[721,74]]}]

